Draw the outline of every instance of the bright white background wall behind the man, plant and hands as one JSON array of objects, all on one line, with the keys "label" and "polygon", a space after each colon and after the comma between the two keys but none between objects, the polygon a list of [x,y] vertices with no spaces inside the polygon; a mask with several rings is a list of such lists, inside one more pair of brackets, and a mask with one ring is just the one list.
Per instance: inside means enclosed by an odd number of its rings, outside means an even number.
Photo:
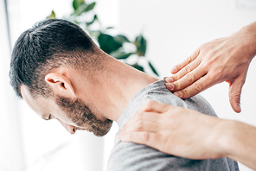
[{"label": "bright white background wall behind the man, plant and hands", "polygon": [[[12,40],[16,40],[24,29],[48,16],[51,9],[55,10],[58,17],[69,14],[72,10],[71,0],[9,2],[10,11],[16,19],[16,22],[11,23]],[[144,33],[149,42],[146,56],[155,64],[162,77],[170,75],[171,66],[188,57],[202,43],[229,35],[253,22],[256,16],[255,9],[238,9],[235,0],[98,0],[97,3],[101,22],[106,26],[115,26],[115,33],[122,32],[131,39],[141,32]],[[215,85],[202,93],[220,117],[237,119],[256,126],[255,100],[253,101],[256,95],[256,82],[253,79],[255,65],[253,60],[241,98],[242,113],[235,114],[232,111],[228,103],[227,84]],[[26,150],[28,170],[64,170],[72,167],[76,167],[76,170],[90,170],[90,167],[95,165],[88,161],[88,156],[92,154],[88,153],[88,147],[94,141],[91,135],[79,133],[77,136],[69,136],[66,130],[61,128],[61,124],[43,121],[23,102],[20,106],[23,147]],[[105,139],[103,149],[102,140],[99,140],[99,151],[105,152],[103,168],[106,168],[115,130],[116,125]],[[80,150],[79,147],[83,145],[84,148]],[[100,152],[99,155],[94,155],[94,160],[97,160],[98,156],[100,157]],[[38,165],[44,167],[38,168]],[[241,165],[241,170],[249,169]]]}]

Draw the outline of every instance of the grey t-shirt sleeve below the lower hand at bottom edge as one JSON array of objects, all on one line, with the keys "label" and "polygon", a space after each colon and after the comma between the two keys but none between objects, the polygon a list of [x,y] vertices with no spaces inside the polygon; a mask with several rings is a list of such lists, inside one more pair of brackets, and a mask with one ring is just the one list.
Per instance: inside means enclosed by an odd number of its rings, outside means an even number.
[{"label": "grey t-shirt sleeve below the lower hand at bottom edge", "polygon": [[157,149],[152,149],[144,145],[132,142],[121,142],[118,140],[110,156],[107,170],[191,171],[204,170],[203,168],[206,167],[207,164],[208,160],[183,159],[174,155],[164,154]]}]

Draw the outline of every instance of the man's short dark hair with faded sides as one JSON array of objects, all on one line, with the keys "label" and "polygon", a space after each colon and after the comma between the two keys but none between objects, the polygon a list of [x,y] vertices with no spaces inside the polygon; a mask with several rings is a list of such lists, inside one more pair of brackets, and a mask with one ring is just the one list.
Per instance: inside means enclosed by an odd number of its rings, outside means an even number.
[{"label": "man's short dark hair with faded sides", "polygon": [[10,61],[10,85],[20,98],[21,85],[27,85],[32,96],[47,98],[51,93],[44,81],[48,71],[59,66],[84,66],[96,49],[91,38],[73,22],[61,19],[37,22],[16,41]]}]

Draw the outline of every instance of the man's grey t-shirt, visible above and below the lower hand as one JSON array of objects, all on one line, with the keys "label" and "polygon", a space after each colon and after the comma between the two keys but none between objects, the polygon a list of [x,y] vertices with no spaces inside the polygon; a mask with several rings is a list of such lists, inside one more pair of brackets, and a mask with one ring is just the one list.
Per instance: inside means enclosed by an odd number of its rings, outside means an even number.
[{"label": "man's grey t-shirt, visible above and below the lower hand", "polygon": [[[200,95],[193,98],[182,100],[176,97],[173,93],[166,89],[164,80],[159,80],[150,84],[140,92],[138,92],[126,106],[125,111],[118,118],[119,130],[123,128],[131,117],[142,107],[147,101],[156,100],[165,104],[182,106],[195,111],[200,111],[210,116],[216,116],[213,108]],[[119,132],[119,131],[118,131]],[[213,147],[214,148],[214,147]],[[160,171],[160,170],[203,170],[203,171],[230,171],[239,170],[237,162],[222,157],[215,160],[190,160],[174,155],[164,154],[157,149],[152,149],[148,146],[122,142],[118,139],[118,134],[115,139],[115,146],[112,149],[108,166],[108,171]]]}]

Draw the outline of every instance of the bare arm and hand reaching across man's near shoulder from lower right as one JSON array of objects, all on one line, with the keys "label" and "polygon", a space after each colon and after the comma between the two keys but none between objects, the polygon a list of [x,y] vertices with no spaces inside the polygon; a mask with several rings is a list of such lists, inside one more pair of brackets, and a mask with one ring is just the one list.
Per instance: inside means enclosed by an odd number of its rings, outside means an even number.
[{"label": "bare arm and hand reaching across man's near shoulder from lower right", "polygon": [[156,101],[145,104],[119,138],[190,159],[226,156],[256,169],[256,128]]}]

